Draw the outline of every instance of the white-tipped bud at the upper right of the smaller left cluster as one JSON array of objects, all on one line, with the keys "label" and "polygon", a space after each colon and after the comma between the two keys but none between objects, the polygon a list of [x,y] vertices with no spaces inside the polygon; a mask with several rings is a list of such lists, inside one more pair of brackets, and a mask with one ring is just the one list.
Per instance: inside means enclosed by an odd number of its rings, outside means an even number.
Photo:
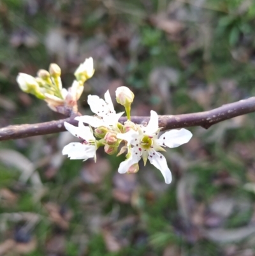
[{"label": "white-tipped bud at the upper right of the smaller left cluster", "polygon": [[84,63],[78,66],[75,71],[75,77],[83,84],[85,80],[90,79],[92,75],[94,75],[93,59],[89,57],[89,59],[85,59]]}]

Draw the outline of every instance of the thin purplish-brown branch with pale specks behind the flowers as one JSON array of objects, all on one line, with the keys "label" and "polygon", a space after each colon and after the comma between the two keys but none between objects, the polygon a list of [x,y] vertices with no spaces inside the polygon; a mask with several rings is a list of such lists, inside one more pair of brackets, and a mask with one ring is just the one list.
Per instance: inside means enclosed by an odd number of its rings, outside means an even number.
[{"label": "thin purplish-brown branch with pale specks behind the flowers", "polygon": [[[175,116],[159,116],[159,127],[162,127],[162,130],[191,126],[202,126],[203,128],[208,129],[213,124],[251,112],[255,112],[255,97],[222,105],[217,109],[204,112]],[[77,116],[80,116],[80,114]],[[66,130],[64,128],[64,122],[68,122],[73,125],[78,124],[74,118],[75,116],[72,116],[66,119],[50,121],[46,123],[20,124],[0,128],[0,141],[64,132]],[[147,124],[149,119],[149,116],[131,117],[131,121],[137,124]],[[124,123],[124,121],[126,121],[126,117],[120,117],[120,123]]]}]

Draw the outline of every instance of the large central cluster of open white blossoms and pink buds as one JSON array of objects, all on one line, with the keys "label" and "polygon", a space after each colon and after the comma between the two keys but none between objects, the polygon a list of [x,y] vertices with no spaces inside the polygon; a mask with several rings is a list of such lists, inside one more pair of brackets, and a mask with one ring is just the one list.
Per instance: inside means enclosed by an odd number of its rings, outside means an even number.
[{"label": "large central cluster of open white blossoms and pink buds", "polygon": [[[150,111],[150,121],[147,126],[135,124],[130,118],[131,103],[134,94],[128,87],[119,87],[116,90],[116,100],[126,110],[128,121],[120,124],[119,118],[124,112],[116,113],[113,107],[109,91],[105,93],[105,100],[96,95],[88,96],[88,103],[95,116],[79,116],[78,127],[64,123],[75,137],[82,142],[68,144],[62,150],[62,154],[68,154],[71,159],[94,158],[96,162],[96,150],[103,146],[105,153],[119,156],[127,152],[126,160],[119,165],[118,171],[123,173],[135,173],[139,170],[138,162],[147,160],[157,169],[161,170],[166,183],[171,183],[171,172],[166,163],[166,158],[160,151],[165,147],[178,147],[189,142],[192,133],[186,129],[170,130],[160,135],[157,113]],[[89,126],[84,126],[84,123]],[[97,138],[97,139],[96,139]]]}]

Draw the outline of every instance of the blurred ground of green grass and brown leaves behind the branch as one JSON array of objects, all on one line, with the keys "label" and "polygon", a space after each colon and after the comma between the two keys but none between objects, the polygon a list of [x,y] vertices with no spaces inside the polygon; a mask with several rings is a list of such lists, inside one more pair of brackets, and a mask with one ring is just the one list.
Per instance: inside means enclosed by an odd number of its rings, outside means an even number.
[{"label": "blurred ground of green grass and brown leaves behind the branch", "polygon": [[[64,87],[86,57],[88,94],[128,86],[132,114],[210,110],[254,96],[253,0],[2,0],[0,126],[63,116],[18,88],[57,63]],[[114,102],[114,100],[113,100]],[[117,106],[117,111],[122,111]],[[69,160],[68,132],[0,144],[0,255],[255,255],[254,114],[164,155],[173,182],[147,163],[118,174],[124,156]]]}]

